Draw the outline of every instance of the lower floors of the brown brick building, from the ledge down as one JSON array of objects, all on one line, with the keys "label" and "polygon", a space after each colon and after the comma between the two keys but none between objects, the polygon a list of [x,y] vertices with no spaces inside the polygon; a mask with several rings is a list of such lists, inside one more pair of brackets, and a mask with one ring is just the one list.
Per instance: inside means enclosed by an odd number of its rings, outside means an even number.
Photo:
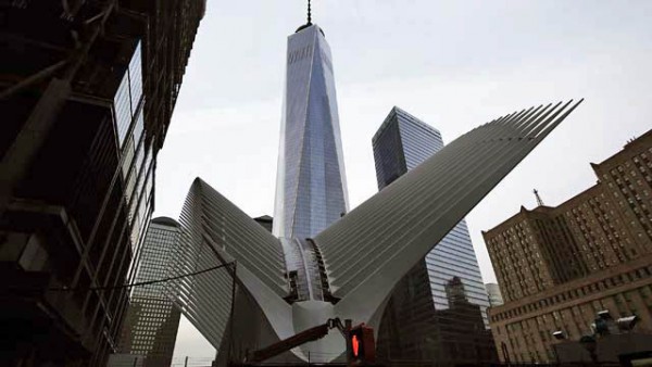
[{"label": "lower floors of the brown brick building, from the ledge down", "polygon": [[652,332],[652,255],[489,308],[501,362],[554,362],[552,336],[592,333],[600,311],[614,318],[638,315],[638,332]]}]

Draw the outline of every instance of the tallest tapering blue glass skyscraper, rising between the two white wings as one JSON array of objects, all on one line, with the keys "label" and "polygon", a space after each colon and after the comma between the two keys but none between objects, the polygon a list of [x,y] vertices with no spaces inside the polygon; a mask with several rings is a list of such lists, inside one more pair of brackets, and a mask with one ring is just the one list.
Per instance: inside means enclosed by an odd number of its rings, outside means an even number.
[{"label": "tallest tapering blue glass skyscraper, rising between the two white wings", "polygon": [[288,37],[273,232],[314,237],[348,210],[330,49],[313,24]]}]

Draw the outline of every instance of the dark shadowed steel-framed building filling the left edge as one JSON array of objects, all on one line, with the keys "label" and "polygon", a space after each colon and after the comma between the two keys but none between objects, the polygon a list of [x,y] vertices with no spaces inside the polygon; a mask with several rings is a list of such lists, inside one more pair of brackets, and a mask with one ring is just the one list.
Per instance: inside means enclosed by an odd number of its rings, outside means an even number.
[{"label": "dark shadowed steel-framed building filling the left edge", "polygon": [[[115,352],[202,0],[0,7],[0,365]],[[93,289],[93,288],[106,289]]]}]

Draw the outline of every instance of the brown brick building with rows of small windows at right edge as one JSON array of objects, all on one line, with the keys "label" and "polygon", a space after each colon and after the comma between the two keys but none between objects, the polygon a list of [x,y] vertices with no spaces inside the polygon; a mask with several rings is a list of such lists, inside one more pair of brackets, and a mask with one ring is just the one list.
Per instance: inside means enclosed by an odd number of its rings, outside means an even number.
[{"label": "brown brick building with rows of small windows at right edge", "polygon": [[652,130],[591,166],[593,187],[482,232],[505,301],[490,311],[502,360],[552,360],[552,332],[590,333],[601,309],[652,332]]}]

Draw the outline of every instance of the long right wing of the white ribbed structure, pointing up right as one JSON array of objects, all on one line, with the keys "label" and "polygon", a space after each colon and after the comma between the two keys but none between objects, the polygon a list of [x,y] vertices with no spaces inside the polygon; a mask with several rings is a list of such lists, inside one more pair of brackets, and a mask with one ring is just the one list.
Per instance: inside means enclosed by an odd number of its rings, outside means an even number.
[{"label": "long right wing of the white ribbed structure, pointing up right", "polygon": [[524,110],[460,137],[315,237],[336,312],[372,319],[403,275],[581,101]]}]

